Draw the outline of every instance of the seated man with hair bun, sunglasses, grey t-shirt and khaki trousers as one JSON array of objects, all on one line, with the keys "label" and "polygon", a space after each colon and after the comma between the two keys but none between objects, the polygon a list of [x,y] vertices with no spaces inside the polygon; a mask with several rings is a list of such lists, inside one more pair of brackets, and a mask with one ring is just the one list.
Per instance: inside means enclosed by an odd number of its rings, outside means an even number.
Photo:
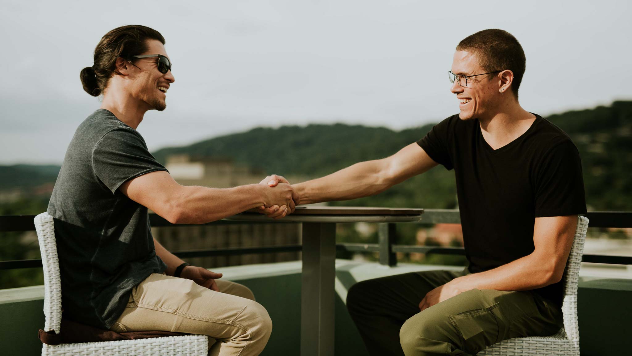
[{"label": "seated man with hair bun, sunglasses, grey t-shirt and khaki trousers", "polygon": [[[79,125],[52,192],[64,318],[114,331],[174,331],[217,340],[209,355],[258,355],[272,331],[250,289],[186,264],[152,238],[148,208],[174,224],[204,224],[262,207],[275,218],[298,196],[276,175],[228,189],[181,186],[147,150],[137,127],[166,108],[175,79],[154,29],[111,30],[83,68],[102,96]],[[280,184],[270,186],[274,178]]]}]

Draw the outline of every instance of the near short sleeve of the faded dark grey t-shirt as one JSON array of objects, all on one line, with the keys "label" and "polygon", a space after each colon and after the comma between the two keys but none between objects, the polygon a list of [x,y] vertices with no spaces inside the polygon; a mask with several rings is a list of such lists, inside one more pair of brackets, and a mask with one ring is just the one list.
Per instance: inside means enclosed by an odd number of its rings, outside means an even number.
[{"label": "near short sleeve of the faded dark grey t-shirt", "polygon": [[130,179],[167,170],[149,153],[143,137],[136,130],[125,127],[107,132],[94,146],[92,169],[113,194]]}]

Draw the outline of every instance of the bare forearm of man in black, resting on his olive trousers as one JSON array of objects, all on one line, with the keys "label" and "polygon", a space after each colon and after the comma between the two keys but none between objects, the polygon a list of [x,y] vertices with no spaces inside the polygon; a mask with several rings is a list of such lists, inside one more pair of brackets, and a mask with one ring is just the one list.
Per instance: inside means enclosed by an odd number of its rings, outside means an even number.
[{"label": "bare forearm of man in black, resting on his olive trousers", "polygon": [[459,292],[470,289],[525,291],[556,283],[553,271],[550,258],[528,255],[495,269],[458,277],[450,283]]}]

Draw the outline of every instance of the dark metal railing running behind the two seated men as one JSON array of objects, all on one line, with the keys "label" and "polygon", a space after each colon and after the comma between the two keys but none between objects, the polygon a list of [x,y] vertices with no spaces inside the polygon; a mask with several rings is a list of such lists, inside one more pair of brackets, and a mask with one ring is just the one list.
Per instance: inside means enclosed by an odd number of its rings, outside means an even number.
[{"label": "dark metal railing running behind the two seated men", "polygon": [[[585,214],[590,220],[590,227],[632,227],[632,212],[588,212]],[[420,224],[460,224],[461,218],[458,210],[425,209]],[[0,232],[8,231],[34,231],[33,219],[35,215],[0,215]],[[159,215],[149,215],[152,227],[165,226],[190,226],[174,225],[163,219]],[[270,224],[283,223],[283,220]],[[253,224],[252,222],[236,222],[219,220],[209,224]],[[397,252],[402,253],[441,253],[446,255],[465,255],[465,250],[461,247],[441,247],[441,246],[417,246],[417,245],[397,245],[397,232],[395,223],[380,223],[378,230],[378,243],[341,243],[336,248],[343,251],[370,251],[379,253],[379,262],[383,265],[394,266],[397,264]],[[210,257],[226,255],[243,255],[246,253],[272,253],[300,251],[301,245],[284,246],[264,246],[248,248],[214,248],[212,250],[190,250],[173,251],[173,254],[181,258],[190,257]],[[596,255],[585,254],[583,262],[599,264],[621,264],[632,265],[632,257],[617,255]],[[0,270],[22,269],[42,267],[42,260],[12,260],[0,261]]]}]

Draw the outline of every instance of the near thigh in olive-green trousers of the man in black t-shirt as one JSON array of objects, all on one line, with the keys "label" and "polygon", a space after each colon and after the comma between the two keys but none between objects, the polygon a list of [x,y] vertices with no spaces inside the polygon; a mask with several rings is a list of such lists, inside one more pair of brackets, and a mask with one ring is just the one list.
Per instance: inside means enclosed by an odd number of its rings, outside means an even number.
[{"label": "near thigh in olive-green trousers of the man in black t-shirt", "polygon": [[400,339],[410,350],[435,347],[475,354],[507,338],[550,334],[557,324],[553,314],[542,313],[530,291],[472,289],[408,319]]}]

